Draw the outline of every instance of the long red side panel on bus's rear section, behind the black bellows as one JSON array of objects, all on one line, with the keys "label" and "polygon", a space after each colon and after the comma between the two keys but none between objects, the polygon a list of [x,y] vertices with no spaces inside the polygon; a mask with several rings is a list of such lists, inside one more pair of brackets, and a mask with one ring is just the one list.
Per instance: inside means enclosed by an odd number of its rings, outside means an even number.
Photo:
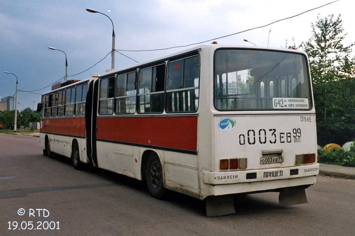
[{"label": "long red side panel on bus's rear section, behind the black bellows", "polygon": [[97,117],[97,138],[197,151],[197,116]]}]

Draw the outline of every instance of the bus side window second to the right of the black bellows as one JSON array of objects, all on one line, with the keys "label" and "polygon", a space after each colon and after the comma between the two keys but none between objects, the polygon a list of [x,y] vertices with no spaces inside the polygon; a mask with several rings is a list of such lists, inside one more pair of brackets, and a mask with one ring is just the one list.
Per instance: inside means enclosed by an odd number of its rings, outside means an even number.
[{"label": "bus side window second to the right of the black bellows", "polygon": [[136,111],[136,72],[116,77],[116,114]]}]

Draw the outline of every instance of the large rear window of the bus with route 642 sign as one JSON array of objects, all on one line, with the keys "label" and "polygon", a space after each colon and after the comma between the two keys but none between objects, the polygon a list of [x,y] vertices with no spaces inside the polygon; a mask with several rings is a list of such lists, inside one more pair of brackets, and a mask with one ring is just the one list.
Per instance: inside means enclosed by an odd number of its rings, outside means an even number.
[{"label": "large rear window of the bus with route 642 sign", "polygon": [[214,58],[218,110],[309,110],[310,78],[302,54],[223,49]]}]

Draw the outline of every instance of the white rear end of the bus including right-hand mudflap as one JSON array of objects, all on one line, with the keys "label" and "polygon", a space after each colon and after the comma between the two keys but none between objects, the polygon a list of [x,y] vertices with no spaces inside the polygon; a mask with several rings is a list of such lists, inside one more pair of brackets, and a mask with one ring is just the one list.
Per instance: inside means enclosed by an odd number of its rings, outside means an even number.
[{"label": "white rear end of the bus including right-hand mudflap", "polygon": [[214,196],[280,192],[280,205],[307,202],[319,172],[307,56],[295,50],[217,48],[213,69]]}]

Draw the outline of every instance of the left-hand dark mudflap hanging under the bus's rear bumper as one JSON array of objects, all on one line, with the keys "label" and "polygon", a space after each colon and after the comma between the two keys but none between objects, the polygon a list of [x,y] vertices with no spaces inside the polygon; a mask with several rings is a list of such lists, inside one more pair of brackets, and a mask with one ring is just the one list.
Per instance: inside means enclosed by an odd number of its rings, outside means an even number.
[{"label": "left-hand dark mudflap hanging under the bus's rear bumper", "polygon": [[234,196],[210,196],[206,200],[207,217],[235,214]]}]

